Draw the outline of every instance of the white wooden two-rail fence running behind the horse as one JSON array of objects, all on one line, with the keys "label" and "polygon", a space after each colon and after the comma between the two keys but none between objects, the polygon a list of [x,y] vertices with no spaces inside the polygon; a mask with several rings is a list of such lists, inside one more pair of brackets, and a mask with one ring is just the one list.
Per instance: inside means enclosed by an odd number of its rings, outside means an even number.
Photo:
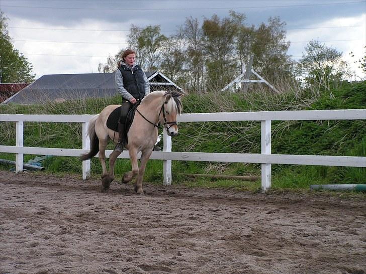
[{"label": "white wooden two-rail fence running behind the horse", "polygon": [[[89,138],[86,136],[86,132],[88,121],[93,116],[1,114],[0,121],[16,122],[16,145],[0,145],[0,152],[16,154],[16,172],[23,170],[24,154],[78,157],[80,154],[89,151]],[[271,121],[364,120],[366,119],[366,109],[191,113],[181,114],[177,119],[179,122],[261,121],[261,154],[171,152],[171,138],[164,130],[163,151],[153,152],[150,157],[150,159],[164,161],[164,185],[171,184],[172,160],[259,163],[262,166],[261,183],[263,193],[271,186],[272,164],[366,167],[366,157],[271,154]],[[23,147],[24,122],[81,122],[82,149]],[[106,157],[109,157],[111,153],[111,150],[106,151]],[[124,151],[119,158],[129,158],[128,152]],[[82,164],[82,178],[85,180],[88,176],[90,176],[90,161],[84,161]]]}]

